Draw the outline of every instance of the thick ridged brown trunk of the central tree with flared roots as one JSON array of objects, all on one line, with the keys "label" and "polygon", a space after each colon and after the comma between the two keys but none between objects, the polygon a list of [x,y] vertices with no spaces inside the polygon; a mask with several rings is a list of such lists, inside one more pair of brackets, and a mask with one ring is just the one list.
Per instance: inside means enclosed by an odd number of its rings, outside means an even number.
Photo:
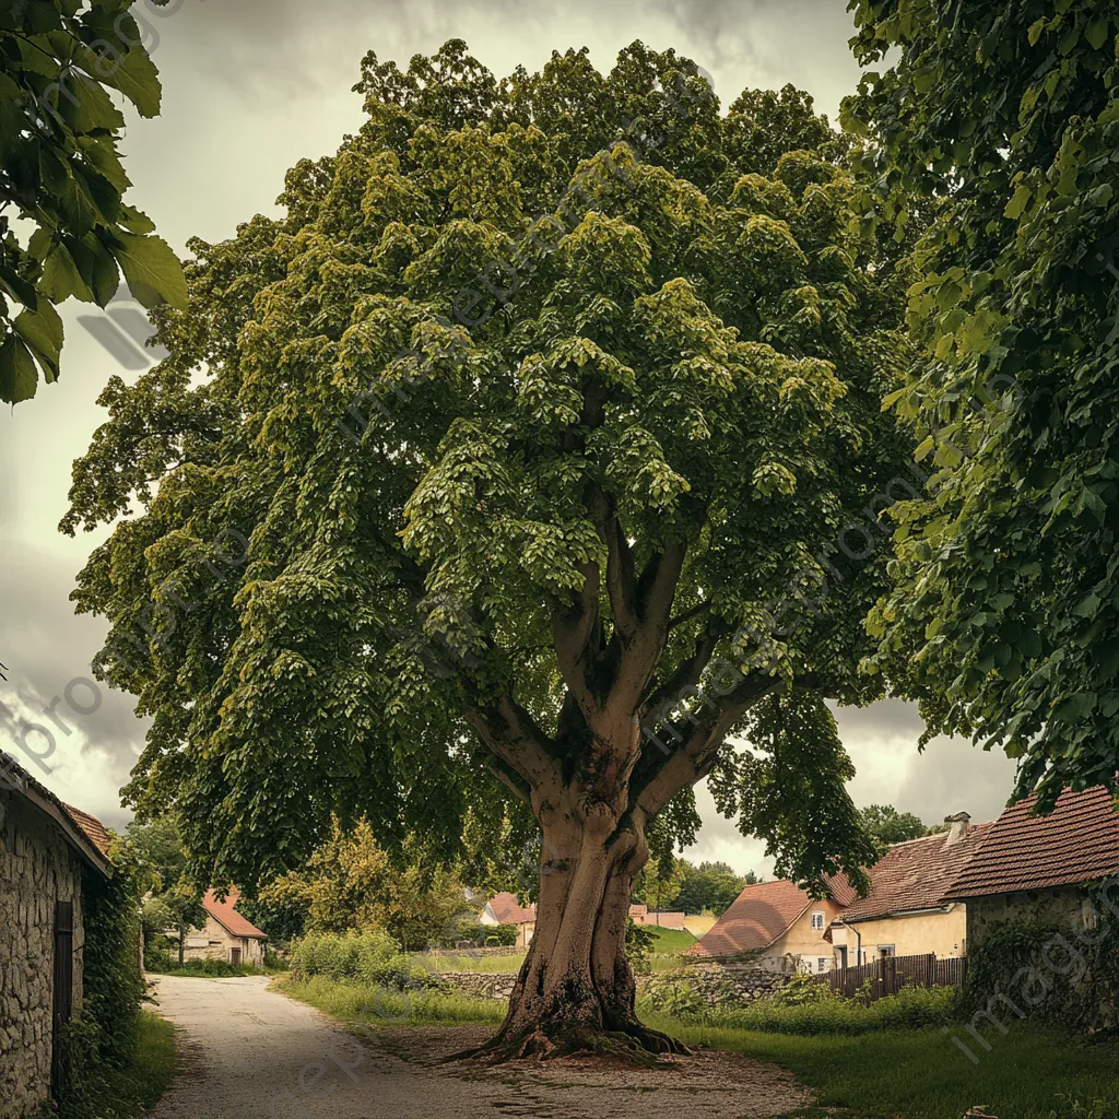
[{"label": "thick ridged brown trunk of the central tree with flared roots", "polygon": [[638,1021],[626,958],[633,876],[648,858],[627,821],[590,814],[545,826],[536,931],[500,1033],[479,1054],[499,1059],[615,1053],[651,1062],[687,1053]]}]

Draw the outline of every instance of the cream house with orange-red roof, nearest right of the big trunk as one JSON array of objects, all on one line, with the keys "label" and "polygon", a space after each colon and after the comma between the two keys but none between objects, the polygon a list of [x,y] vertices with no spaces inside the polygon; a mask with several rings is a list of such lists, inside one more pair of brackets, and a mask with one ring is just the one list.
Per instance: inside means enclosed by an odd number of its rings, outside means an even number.
[{"label": "cream house with orange-red roof, nearest right of the big trunk", "polygon": [[820,901],[794,882],[759,882],[746,886],[685,955],[754,962],[770,971],[830,971],[835,952],[825,933],[856,896],[843,876],[829,880],[828,896]]}]

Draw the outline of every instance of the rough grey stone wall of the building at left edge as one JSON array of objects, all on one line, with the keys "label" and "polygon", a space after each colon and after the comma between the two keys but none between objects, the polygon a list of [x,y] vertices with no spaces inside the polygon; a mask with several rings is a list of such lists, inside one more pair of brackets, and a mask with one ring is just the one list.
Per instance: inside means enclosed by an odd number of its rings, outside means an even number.
[{"label": "rough grey stone wall of the building at left edge", "polygon": [[55,825],[0,789],[0,1119],[50,1094],[55,902],[74,903],[74,1010],[82,1002],[82,866]]}]

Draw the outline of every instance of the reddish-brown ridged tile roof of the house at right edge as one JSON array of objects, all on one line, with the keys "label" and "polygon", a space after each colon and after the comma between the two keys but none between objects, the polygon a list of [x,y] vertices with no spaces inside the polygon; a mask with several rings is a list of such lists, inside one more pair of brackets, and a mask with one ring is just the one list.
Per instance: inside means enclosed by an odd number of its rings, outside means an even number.
[{"label": "reddish-brown ridged tile roof of the house at right edge", "polygon": [[1036,797],[995,821],[950,897],[1079,885],[1119,871],[1119,812],[1102,787],[1066,789],[1049,816],[1031,816]]}]

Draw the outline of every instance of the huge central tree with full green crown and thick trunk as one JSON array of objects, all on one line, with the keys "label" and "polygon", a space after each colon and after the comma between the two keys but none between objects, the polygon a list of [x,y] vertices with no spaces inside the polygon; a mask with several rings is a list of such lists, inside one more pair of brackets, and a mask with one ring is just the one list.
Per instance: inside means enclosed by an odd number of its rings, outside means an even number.
[{"label": "huge central tree with full green crown and thick trunk", "polygon": [[65,527],[124,516],[76,600],[153,718],[128,796],[215,882],[300,865],[333,814],[510,873],[536,835],[492,1051],[671,1050],[627,911],[697,781],[781,873],[873,859],[826,700],[877,694],[903,278],[839,166],[736,163],[671,51],[497,82],[451,41],[357,88],[285,217],[191,245],[170,356],[75,468]]}]

